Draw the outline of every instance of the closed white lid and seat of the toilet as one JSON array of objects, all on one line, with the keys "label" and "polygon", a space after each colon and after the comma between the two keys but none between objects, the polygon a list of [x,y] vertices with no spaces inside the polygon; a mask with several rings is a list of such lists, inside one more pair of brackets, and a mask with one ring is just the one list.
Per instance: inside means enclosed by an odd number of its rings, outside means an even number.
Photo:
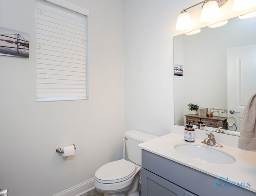
[{"label": "closed white lid and seat of the toilet", "polygon": [[136,168],[136,165],[125,159],[112,161],[95,172],[95,180],[104,184],[122,182],[131,178],[135,174]]}]

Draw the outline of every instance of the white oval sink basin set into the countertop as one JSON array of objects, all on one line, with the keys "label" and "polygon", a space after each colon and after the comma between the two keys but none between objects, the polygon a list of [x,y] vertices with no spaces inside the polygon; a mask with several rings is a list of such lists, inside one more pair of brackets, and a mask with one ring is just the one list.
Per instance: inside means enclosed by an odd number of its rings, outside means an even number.
[{"label": "white oval sink basin set into the countertop", "polygon": [[174,146],[174,149],[183,155],[203,162],[216,164],[230,164],[236,162],[236,159],[232,155],[206,146],[177,144]]}]

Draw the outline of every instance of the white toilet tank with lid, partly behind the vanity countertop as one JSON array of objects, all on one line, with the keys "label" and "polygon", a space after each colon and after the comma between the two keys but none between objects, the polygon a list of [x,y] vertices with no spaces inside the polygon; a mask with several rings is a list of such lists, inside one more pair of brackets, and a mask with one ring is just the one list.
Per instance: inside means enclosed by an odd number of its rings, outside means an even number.
[{"label": "white toilet tank with lid, partly behind the vanity countertop", "polygon": [[128,159],[141,166],[141,148],[138,145],[158,136],[137,131],[135,129],[126,131],[124,136],[126,139],[125,143]]}]

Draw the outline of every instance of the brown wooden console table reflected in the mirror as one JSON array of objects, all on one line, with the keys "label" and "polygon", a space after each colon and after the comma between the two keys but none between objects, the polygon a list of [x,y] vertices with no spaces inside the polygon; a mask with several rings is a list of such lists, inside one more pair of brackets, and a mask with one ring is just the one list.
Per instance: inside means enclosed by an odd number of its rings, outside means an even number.
[{"label": "brown wooden console table reflected in the mirror", "polygon": [[202,118],[202,121],[204,121],[204,124],[207,127],[222,127],[222,129],[228,129],[228,123],[226,117],[220,117],[220,116],[202,116],[198,114],[187,114],[186,116],[186,124],[188,124],[188,121],[192,121],[192,124],[195,125],[200,119]]}]

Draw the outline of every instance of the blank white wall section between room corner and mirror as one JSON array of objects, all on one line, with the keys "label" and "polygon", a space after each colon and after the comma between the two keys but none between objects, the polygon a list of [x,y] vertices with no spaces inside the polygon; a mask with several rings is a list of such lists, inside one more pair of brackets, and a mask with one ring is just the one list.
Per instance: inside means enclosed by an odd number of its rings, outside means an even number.
[{"label": "blank white wall section between room corner and mirror", "polygon": [[197,2],[124,1],[125,130],[170,133],[176,20],[182,9]]}]

